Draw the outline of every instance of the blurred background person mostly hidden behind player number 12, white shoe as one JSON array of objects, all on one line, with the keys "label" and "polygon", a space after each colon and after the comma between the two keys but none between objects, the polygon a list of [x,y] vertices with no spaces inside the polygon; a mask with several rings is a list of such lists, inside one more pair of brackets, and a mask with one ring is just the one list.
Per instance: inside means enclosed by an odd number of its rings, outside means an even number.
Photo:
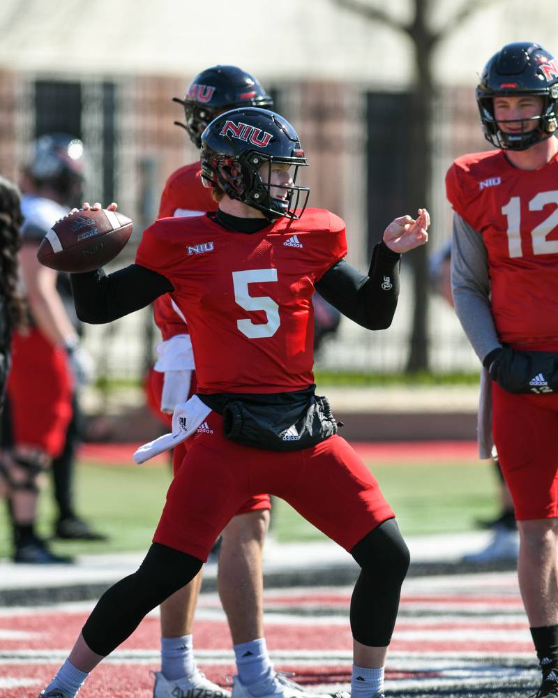
[{"label": "blurred background person mostly hidden behind player number 12, white shoe", "polygon": [[[430,255],[430,281],[436,292],[453,308],[451,295],[451,240]],[[481,528],[492,529],[492,539],[486,547],[463,557],[466,563],[490,563],[496,560],[515,560],[519,553],[518,527],[508,486],[498,463],[496,448],[492,448],[492,463],[498,478],[498,500],[500,511],[490,521],[478,521]]]}]

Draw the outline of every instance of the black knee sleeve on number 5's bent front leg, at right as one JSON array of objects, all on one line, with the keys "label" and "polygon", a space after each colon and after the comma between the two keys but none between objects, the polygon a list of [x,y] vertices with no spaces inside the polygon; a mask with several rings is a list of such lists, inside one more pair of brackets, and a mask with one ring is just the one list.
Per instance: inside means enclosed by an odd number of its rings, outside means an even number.
[{"label": "black knee sleeve on number 5's bent front leg, at right", "polygon": [[361,566],[351,600],[354,639],[370,647],[389,645],[409,569],[409,549],[395,519],[384,521],[351,551]]}]

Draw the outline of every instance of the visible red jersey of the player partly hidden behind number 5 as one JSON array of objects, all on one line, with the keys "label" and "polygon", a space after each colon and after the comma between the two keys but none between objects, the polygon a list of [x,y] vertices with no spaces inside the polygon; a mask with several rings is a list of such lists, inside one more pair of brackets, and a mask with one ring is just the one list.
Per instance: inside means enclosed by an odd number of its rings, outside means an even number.
[{"label": "visible red jersey of the player partly hidden behind number 5", "polygon": [[[167,179],[161,195],[158,218],[170,216],[199,216],[207,211],[216,211],[217,202],[199,177],[199,161],[184,165]],[[169,295],[160,296],[153,303],[153,318],[160,329],[163,340],[176,334],[186,334],[188,327],[172,305]]]}]

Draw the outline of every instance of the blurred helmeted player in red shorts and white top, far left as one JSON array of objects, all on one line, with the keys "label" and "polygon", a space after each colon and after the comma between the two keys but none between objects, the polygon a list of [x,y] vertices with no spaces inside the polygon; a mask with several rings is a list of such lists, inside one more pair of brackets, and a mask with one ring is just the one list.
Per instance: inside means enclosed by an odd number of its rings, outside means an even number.
[{"label": "blurred helmeted player in red shorts and white top, far left", "polygon": [[75,513],[73,470],[79,441],[77,390],[91,373],[68,279],[39,264],[36,253],[53,223],[82,199],[83,145],[68,135],[36,141],[22,176],[20,267],[29,332],[13,336],[13,366],[3,413],[2,444],[9,463],[14,555],[18,563],[63,563],[35,530],[39,476],[52,465],[59,509],[55,533],[102,540]]}]

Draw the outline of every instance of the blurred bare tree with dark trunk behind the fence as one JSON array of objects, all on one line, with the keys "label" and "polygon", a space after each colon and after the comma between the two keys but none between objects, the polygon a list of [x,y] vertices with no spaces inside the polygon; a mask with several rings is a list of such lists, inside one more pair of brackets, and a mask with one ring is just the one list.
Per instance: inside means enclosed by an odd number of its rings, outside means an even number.
[{"label": "blurred bare tree with dark trunk behind the fence", "polygon": [[[426,206],[432,191],[432,147],[435,103],[438,88],[432,68],[435,50],[439,43],[478,10],[499,0],[463,0],[453,10],[451,17],[442,27],[431,26],[435,17],[435,4],[442,0],[412,0],[414,16],[408,22],[395,19],[384,9],[384,3],[376,0],[332,0],[340,8],[360,15],[370,22],[382,22],[387,26],[407,34],[414,46],[416,74],[411,92],[409,115],[409,152],[412,157],[409,191],[409,213],[416,212],[419,206]],[[407,358],[407,372],[428,371],[428,266],[425,246],[409,252],[407,258],[414,274],[414,312],[412,335]]]}]

